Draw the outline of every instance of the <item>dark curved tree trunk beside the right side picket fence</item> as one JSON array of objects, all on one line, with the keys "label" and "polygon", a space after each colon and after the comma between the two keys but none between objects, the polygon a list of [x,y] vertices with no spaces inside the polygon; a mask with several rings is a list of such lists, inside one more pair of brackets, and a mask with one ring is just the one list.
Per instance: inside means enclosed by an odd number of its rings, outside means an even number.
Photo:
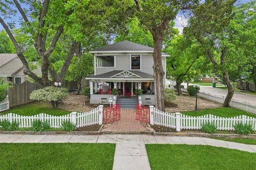
[{"label": "dark curved tree trunk beside the right side picket fence", "polygon": [[229,80],[229,76],[228,76],[228,71],[223,71],[223,80],[225,82],[225,84],[227,85],[228,87],[228,94],[227,94],[227,97],[225,98],[225,101],[223,103],[223,107],[229,107],[229,104],[230,104],[230,101],[234,95],[234,86],[233,84],[231,83],[231,81]]}]

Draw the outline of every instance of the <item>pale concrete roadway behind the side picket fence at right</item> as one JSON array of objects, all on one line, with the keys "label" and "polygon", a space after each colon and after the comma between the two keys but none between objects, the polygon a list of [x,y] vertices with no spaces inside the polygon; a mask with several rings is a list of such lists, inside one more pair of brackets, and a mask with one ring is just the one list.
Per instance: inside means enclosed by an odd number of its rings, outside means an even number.
[{"label": "pale concrete roadway behind the side picket fence at right", "polygon": [[[185,88],[187,88],[187,83],[182,83]],[[205,92],[206,94],[216,95],[219,97],[226,96],[228,94],[228,90],[217,89],[210,86],[200,86],[200,92]],[[256,105],[256,96],[242,94],[240,92],[235,92],[234,99],[239,101],[249,101],[251,104]]]}]

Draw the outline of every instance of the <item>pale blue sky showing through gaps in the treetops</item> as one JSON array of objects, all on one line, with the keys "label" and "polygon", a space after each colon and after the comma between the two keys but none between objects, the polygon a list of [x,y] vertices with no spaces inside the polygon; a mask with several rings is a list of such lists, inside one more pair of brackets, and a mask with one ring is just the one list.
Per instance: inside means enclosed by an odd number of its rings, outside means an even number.
[{"label": "pale blue sky showing through gaps in the treetops", "polygon": [[[237,4],[238,3],[247,3],[247,2],[250,2],[251,0],[238,0],[237,1]],[[23,4],[22,4],[23,5]],[[22,6],[23,8],[26,8],[26,6]],[[18,21],[20,18],[20,15],[17,15],[17,16],[13,16],[12,20],[14,21]],[[10,22],[11,20],[6,20],[7,22]],[[186,27],[187,25],[187,20],[185,18],[182,17],[182,15],[179,13],[176,17],[176,19],[174,20],[175,21],[175,25],[174,25],[174,28],[177,28],[180,32],[180,34],[182,34],[182,31],[183,31],[183,28]],[[18,23],[15,25],[16,28],[19,28],[19,25]],[[3,29],[2,25],[0,24],[0,31]]]}]

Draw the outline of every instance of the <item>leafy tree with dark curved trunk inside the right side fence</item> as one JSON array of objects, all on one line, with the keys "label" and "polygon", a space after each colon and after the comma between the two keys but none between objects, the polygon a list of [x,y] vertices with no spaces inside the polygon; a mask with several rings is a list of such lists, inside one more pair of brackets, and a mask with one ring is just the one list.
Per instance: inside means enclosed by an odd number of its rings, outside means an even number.
[{"label": "leafy tree with dark curved trunk inside the right side fence", "polygon": [[[234,46],[234,32],[228,25],[233,19],[233,6],[236,0],[206,0],[199,4],[184,29],[186,36],[191,36],[204,46],[205,54],[212,62],[215,70],[221,71],[222,79],[228,87],[228,94],[223,106],[229,107],[234,95],[234,86],[229,78],[229,69],[233,69],[238,51]],[[233,60],[230,60],[232,57]],[[230,61],[227,63],[227,61]],[[231,68],[233,66],[233,68]]]}]

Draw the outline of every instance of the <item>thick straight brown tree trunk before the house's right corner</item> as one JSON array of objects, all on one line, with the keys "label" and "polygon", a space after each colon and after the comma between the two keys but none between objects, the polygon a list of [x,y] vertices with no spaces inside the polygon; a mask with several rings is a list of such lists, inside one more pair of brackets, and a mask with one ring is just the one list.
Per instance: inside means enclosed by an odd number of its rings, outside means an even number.
[{"label": "thick straight brown tree trunk before the house's right corner", "polygon": [[164,70],[162,64],[162,41],[163,41],[163,32],[156,32],[153,35],[154,39],[154,90],[155,90],[155,103],[156,108],[161,111],[165,111],[164,108],[164,84],[163,84],[163,77],[164,77]]}]

